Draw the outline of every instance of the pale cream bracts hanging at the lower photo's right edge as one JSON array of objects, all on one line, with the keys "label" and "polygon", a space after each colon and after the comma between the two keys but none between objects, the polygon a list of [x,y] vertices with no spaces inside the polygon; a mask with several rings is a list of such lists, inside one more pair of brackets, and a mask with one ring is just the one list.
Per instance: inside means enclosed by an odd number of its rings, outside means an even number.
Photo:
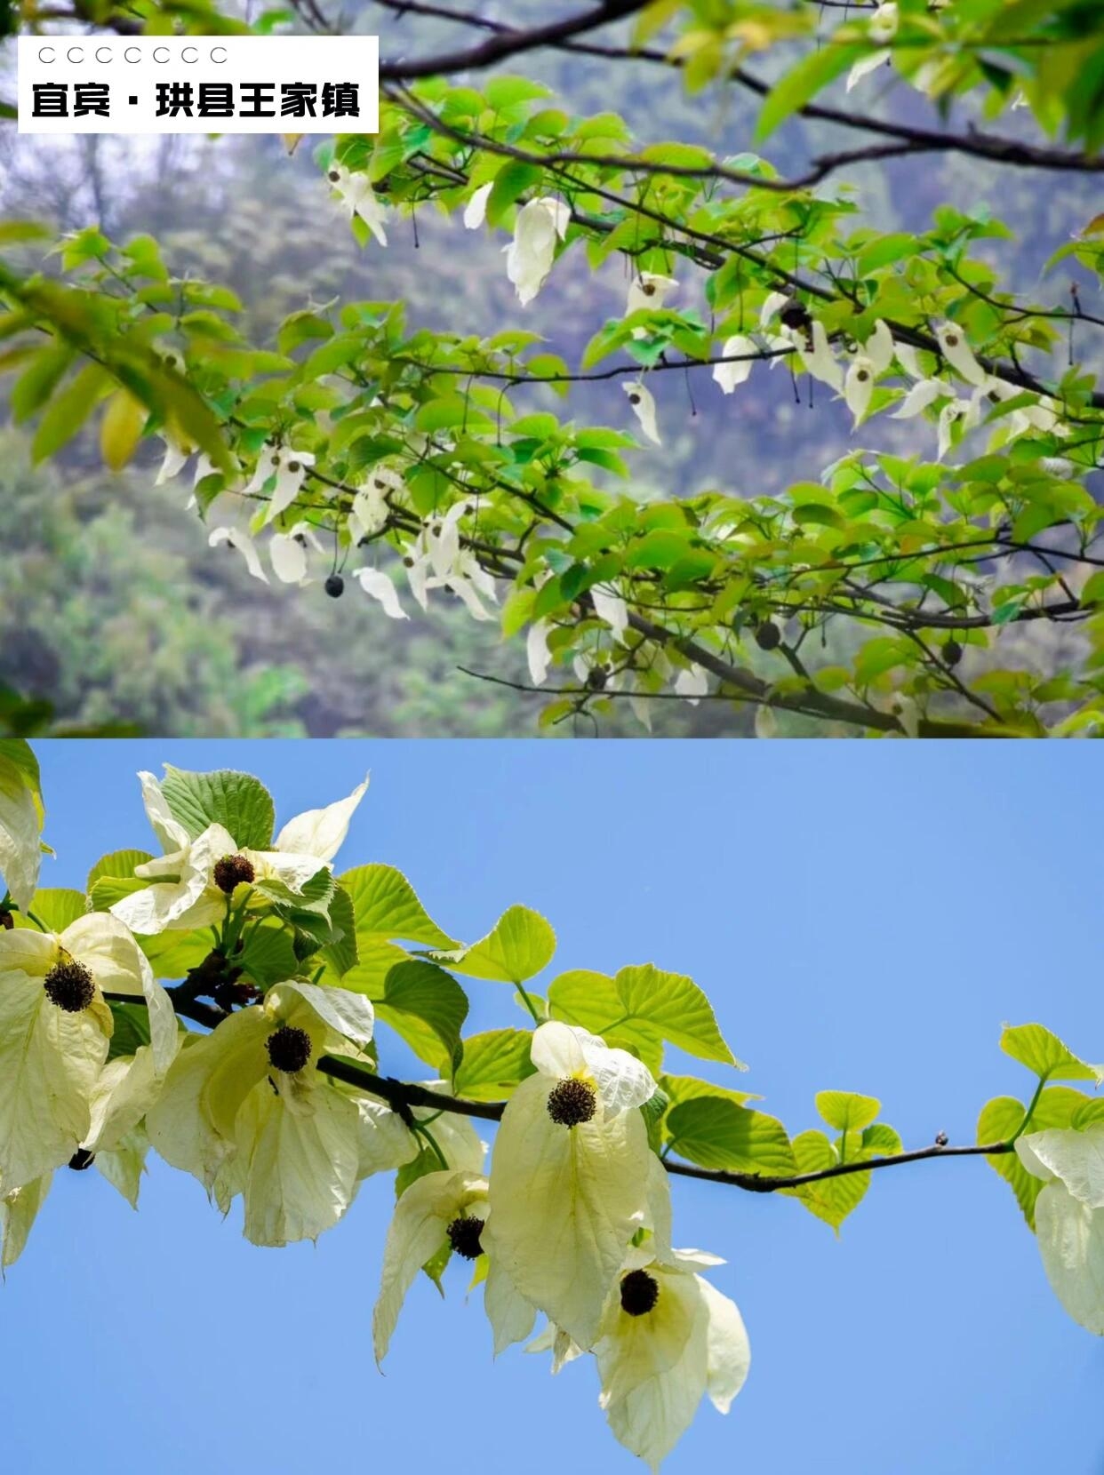
[{"label": "pale cream bracts hanging at the lower photo's right edge", "polygon": [[1029,1133],[1015,1150],[1046,1184],[1035,1235],[1051,1289],[1074,1322],[1104,1336],[1104,1122]]}]

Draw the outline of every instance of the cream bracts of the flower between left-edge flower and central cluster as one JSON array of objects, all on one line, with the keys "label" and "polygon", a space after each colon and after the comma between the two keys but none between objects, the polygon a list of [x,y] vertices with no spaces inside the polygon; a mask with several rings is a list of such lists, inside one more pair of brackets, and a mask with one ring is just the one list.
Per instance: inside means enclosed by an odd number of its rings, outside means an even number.
[{"label": "cream bracts of the flower between left-edge flower and central cluster", "polygon": [[365,1162],[410,1158],[399,1131],[387,1139],[393,1150],[368,1153],[363,1137],[378,1122],[317,1068],[326,1053],[362,1055],[372,1025],[362,994],[276,984],[182,1050],[146,1118],[149,1140],[224,1208],[241,1193],[252,1243],[316,1239],[353,1202]]}]

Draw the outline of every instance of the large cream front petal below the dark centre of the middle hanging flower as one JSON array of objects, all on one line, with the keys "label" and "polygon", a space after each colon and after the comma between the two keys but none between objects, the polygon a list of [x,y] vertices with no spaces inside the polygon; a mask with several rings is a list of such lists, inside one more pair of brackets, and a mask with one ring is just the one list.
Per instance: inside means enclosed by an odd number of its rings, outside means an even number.
[{"label": "large cream front petal below the dark centre of the middle hanging flower", "polygon": [[590,1347],[646,1208],[648,1137],[636,1111],[571,1128],[553,1122],[552,1084],[531,1075],[506,1103],[484,1243],[525,1299]]}]

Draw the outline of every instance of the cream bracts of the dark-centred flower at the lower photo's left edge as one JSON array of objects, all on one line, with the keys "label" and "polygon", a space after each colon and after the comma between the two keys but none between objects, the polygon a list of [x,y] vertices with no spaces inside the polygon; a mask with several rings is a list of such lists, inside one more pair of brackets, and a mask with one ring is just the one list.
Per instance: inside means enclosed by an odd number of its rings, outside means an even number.
[{"label": "cream bracts of the dark-centred flower at the lower photo's left edge", "polygon": [[112,1016],[103,994],[145,1000],[151,1066],[176,1052],[173,1006],[130,931],[106,912],[63,932],[0,932],[0,1184],[68,1162],[92,1131]]}]

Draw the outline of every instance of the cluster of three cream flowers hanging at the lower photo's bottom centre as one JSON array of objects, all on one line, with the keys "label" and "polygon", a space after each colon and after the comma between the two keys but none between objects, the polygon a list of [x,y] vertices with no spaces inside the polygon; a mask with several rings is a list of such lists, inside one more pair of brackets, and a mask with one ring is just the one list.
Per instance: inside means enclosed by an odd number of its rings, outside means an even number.
[{"label": "cluster of three cream flowers hanging at the lower photo's bottom centre", "polygon": [[373,1316],[387,1354],[403,1298],[444,1248],[487,1257],[484,1308],[496,1354],[530,1344],[553,1370],[592,1351],[614,1435],[652,1469],[703,1395],[722,1412],[750,1366],[735,1304],[698,1270],[713,1255],[673,1249],[667,1174],[639,1108],[648,1069],[586,1030],[551,1021],[533,1034],[536,1074],[506,1103],[489,1177],[431,1173],[403,1193]]}]

